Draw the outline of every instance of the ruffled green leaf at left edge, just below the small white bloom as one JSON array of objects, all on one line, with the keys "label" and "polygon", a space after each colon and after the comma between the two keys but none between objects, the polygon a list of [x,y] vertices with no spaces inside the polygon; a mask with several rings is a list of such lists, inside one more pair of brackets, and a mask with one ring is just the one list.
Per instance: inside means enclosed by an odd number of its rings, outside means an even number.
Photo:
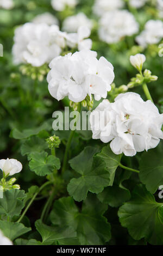
[{"label": "ruffled green leaf at left edge, just below the small white bloom", "polygon": [[26,194],[23,190],[8,190],[3,193],[0,199],[0,215],[9,217],[18,216],[24,207],[23,199]]}]

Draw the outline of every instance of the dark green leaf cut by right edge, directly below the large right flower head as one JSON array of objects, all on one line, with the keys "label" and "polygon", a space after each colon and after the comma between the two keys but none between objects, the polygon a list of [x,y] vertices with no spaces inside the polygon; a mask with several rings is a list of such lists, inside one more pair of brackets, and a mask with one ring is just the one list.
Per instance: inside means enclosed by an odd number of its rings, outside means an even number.
[{"label": "dark green leaf cut by right edge, directly below the large right flower head", "polygon": [[155,193],[163,184],[163,142],[142,154],[139,177],[149,192]]}]

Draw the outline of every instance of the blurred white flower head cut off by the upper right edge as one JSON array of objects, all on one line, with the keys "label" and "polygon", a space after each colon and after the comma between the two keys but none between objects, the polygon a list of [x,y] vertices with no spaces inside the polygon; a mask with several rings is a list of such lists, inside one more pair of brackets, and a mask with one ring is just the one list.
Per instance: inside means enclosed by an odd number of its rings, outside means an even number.
[{"label": "blurred white flower head cut off by the upper right edge", "polygon": [[163,22],[160,20],[149,20],[145,25],[145,30],[136,36],[136,42],[142,47],[148,44],[158,44],[163,38]]}]

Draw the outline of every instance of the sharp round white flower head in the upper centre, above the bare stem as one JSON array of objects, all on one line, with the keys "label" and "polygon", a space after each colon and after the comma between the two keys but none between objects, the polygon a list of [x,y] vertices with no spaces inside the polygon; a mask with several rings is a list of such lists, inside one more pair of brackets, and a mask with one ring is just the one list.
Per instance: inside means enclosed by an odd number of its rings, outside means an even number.
[{"label": "sharp round white flower head in the upper centre, above the bare stem", "polygon": [[83,50],[54,58],[47,76],[49,93],[57,100],[68,96],[73,102],[92,94],[96,100],[105,98],[111,90],[114,68],[104,57],[96,57],[96,52]]}]

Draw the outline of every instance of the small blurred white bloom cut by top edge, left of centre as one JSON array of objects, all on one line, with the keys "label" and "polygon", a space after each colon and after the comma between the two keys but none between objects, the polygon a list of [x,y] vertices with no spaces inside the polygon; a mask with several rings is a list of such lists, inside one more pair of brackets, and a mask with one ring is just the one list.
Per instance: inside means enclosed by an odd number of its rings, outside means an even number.
[{"label": "small blurred white bloom cut by top edge, left of centre", "polygon": [[63,11],[66,8],[66,5],[68,7],[74,8],[78,1],[77,0],[52,0],[52,7],[54,10],[57,11]]}]

